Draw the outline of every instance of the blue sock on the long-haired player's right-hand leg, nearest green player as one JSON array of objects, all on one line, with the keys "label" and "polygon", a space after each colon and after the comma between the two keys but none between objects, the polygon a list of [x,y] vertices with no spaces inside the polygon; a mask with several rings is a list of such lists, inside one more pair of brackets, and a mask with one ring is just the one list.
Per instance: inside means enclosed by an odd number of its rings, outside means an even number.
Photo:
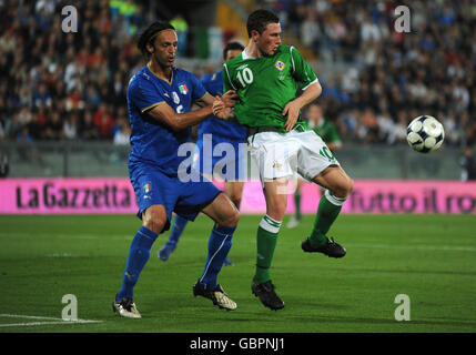
[{"label": "blue sock on the long-haired player's right-hand leg, nearest green player", "polygon": [[236,226],[217,224],[212,230],[209,239],[209,255],[206,257],[205,270],[200,277],[200,282],[205,284],[206,288],[216,288],[216,277],[232,247],[232,236],[235,230]]}]

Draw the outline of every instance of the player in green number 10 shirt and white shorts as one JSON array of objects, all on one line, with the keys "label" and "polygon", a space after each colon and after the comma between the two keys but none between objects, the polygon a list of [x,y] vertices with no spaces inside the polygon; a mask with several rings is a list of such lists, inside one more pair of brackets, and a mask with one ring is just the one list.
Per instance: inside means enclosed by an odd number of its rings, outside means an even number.
[{"label": "player in green number 10 shirt and white shorts", "polygon": [[[256,271],[252,293],[264,306],[281,310],[284,302],[271,281],[277,234],[287,203],[287,181],[297,172],[326,189],[313,229],[302,242],[304,252],[342,257],[346,251],[326,233],[352,191],[353,181],[322,139],[301,119],[300,110],[322,92],[321,84],[300,52],[281,44],[278,18],[267,10],[252,12],[246,22],[250,42],[223,65],[224,91],[239,94],[233,110],[215,100],[213,112],[221,119],[235,116],[249,128],[247,144],[260,169],[266,214],[256,235]],[[303,92],[296,98],[296,92]]]}]

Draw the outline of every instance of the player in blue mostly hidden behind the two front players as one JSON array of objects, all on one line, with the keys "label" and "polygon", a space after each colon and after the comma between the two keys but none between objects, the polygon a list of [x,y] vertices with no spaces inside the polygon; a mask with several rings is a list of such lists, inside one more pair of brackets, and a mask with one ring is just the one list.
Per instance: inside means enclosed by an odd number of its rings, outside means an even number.
[{"label": "player in blue mostly hidden behind the two front players", "polygon": [[[229,42],[223,49],[223,60],[226,62],[227,60],[239,55],[243,50],[244,45],[240,42]],[[213,97],[222,95],[223,78],[221,70],[215,73],[204,75],[201,79],[201,82],[206,91]],[[200,124],[196,140],[196,153],[194,156],[195,163],[199,164],[195,168],[207,175],[212,175],[212,172],[217,163],[224,164],[222,175],[225,180],[225,192],[237,209],[240,209],[244,185],[244,176],[240,176],[240,173],[242,172],[240,169],[243,169],[244,164],[244,152],[243,150],[240,150],[239,145],[240,143],[245,143],[245,140],[246,128],[244,125],[241,125],[237,122],[225,122],[215,116],[212,116]],[[211,151],[213,151],[214,146],[220,143],[231,144],[233,146],[234,155],[226,155],[225,162],[223,162],[222,156],[215,155],[213,155],[211,162],[206,161],[207,156],[205,156],[203,153],[204,144],[209,144]],[[234,164],[227,165],[231,160],[234,160]],[[226,169],[230,166],[235,168],[234,172],[226,171]],[[175,216],[169,241],[159,251],[158,256],[161,260],[169,260],[169,256],[175,250],[179,239],[182,235],[188,222],[189,220],[185,217],[180,215]],[[232,262],[227,256],[224,261],[224,264],[232,265]]]}]

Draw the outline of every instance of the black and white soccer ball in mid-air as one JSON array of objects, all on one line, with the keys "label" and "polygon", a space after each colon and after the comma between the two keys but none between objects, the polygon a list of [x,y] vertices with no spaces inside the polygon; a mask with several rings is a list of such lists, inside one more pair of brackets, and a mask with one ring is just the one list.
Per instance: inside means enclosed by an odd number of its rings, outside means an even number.
[{"label": "black and white soccer ball in mid-air", "polygon": [[445,139],[443,124],[431,115],[421,115],[406,129],[406,140],[413,150],[431,153],[442,146]]}]

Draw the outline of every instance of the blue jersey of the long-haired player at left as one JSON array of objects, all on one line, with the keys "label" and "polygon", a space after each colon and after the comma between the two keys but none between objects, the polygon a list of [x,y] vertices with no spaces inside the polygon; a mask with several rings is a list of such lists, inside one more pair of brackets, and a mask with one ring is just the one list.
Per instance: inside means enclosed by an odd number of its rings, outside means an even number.
[{"label": "blue jersey of the long-haired player at left", "polygon": [[131,120],[131,152],[129,165],[146,163],[163,173],[176,176],[180,163],[179,146],[190,141],[190,128],[173,131],[166,124],[148,115],[146,111],[166,103],[175,112],[190,111],[194,100],[203,98],[206,90],[190,72],[172,68],[172,80],[160,79],[145,65],[129,82],[128,109]]}]

